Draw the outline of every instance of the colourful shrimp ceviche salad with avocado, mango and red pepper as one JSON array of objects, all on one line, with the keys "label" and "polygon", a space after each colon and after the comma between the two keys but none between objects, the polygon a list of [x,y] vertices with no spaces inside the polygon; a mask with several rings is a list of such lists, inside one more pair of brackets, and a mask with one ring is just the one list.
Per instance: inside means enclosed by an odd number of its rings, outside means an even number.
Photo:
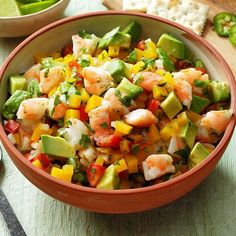
[{"label": "colourful shrimp ceviche salad with avocado, mango and red pepper", "polygon": [[228,84],[173,35],[141,31],[135,21],[101,38],[79,31],[10,76],[4,128],[33,166],[78,185],[130,189],[179,176],[214,150],[232,115]]}]

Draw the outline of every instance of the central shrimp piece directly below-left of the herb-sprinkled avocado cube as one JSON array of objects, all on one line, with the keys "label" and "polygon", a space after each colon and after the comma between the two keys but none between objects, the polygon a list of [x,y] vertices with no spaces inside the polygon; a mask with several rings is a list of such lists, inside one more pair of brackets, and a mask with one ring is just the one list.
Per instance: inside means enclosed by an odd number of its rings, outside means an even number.
[{"label": "central shrimp piece directly below-left of the herb-sprinkled avocado cube", "polygon": [[110,116],[115,116],[115,114],[123,116],[129,112],[129,109],[115,95],[115,91],[116,89],[114,88],[107,90],[104,95],[103,104],[108,105]]}]

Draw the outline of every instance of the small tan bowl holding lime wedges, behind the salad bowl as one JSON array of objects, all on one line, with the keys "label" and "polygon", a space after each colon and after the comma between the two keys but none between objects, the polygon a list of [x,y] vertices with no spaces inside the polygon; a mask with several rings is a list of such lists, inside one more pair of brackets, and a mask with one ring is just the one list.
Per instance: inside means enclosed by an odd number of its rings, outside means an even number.
[{"label": "small tan bowl holding lime wedges, behind the salad bowl", "polygon": [[47,9],[25,16],[0,17],[0,37],[14,38],[30,35],[62,17],[70,0],[60,0]]}]

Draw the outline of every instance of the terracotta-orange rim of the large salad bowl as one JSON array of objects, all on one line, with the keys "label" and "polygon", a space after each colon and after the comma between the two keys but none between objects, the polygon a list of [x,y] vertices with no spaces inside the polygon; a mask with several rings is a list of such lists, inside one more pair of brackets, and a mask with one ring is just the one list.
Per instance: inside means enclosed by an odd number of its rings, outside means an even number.
[{"label": "terracotta-orange rim of the large salad bowl", "polygon": [[[207,50],[211,54],[213,54],[214,57],[216,57],[217,60],[219,60],[221,62],[222,68],[224,69],[226,77],[228,78],[228,83],[232,87],[231,96],[236,97],[236,82],[235,82],[235,79],[234,79],[234,75],[233,75],[229,65],[226,63],[224,58],[221,56],[221,54],[209,42],[207,42],[204,38],[197,35],[193,31],[191,31],[190,29],[187,29],[186,27],[184,27],[184,26],[182,26],[178,23],[172,22],[168,19],[165,19],[165,18],[162,18],[162,17],[159,17],[159,16],[148,15],[148,14],[145,14],[145,13],[136,13],[136,12],[130,12],[130,11],[96,11],[96,12],[90,12],[90,13],[80,14],[80,15],[77,15],[77,16],[67,17],[65,19],[56,21],[54,23],[51,23],[51,24],[43,27],[42,29],[36,31],[35,33],[33,33],[32,35],[27,37],[23,42],[21,42],[10,53],[10,55],[6,58],[6,60],[4,61],[4,63],[2,64],[2,66],[0,68],[0,80],[2,79],[2,76],[4,74],[5,69],[7,68],[8,64],[11,62],[11,60],[14,58],[14,56],[17,55],[17,53],[22,48],[27,46],[27,44],[31,40],[37,38],[37,36],[42,35],[44,32],[47,32],[47,31],[53,29],[54,27],[58,27],[58,26],[67,24],[69,22],[73,22],[73,21],[80,20],[80,19],[86,19],[86,18],[90,18],[90,17],[96,17],[96,16],[99,17],[99,16],[106,16],[106,15],[108,15],[108,16],[109,15],[110,16],[113,16],[113,15],[137,16],[137,17],[143,17],[143,18],[147,18],[147,19],[151,19],[151,20],[156,20],[156,21],[171,25],[175,28],[178,28],[178,29],[182,30],[183,32],[187,33],[188,35],[192,36],[192,38],[197,39],[197,41],[200,41],[201,44],[203,44],[205,46],[205,48],[207,48]],[[0,140],[2,141],[2,143],[3,143],[4,147],[6,148],[7,152],[12,153],[16,158],[18,158],[18,161],[20,161],[21,164],[26,165],[27,168],[31,169],[31,171],[34,172],[35,174],[40,175],[41,178],[43,178],[47,181],[52,181],[55,185],[60,185],[61,187],[66,187],[66,188],[69,188],[71,190],[78,191],[78,192],[86,192],[86,193],[90,193],[90,194],[99,194],[99,195],[142,194],[142,193],[152,192],[152,191],[158,190],[158,189],[168,188],[172,185],[175,185],[176,183],[179,183],[179,182],[183,181],[185,178],[189,178],[190,176],[196,174],[196,172],[198,172],[203,166],[207,166],[212,161],[214,161],[217,158],[216,154],[220,153],[221,149],[226,148],[226,146],[228,145],[228,142],[229,142],[229,140],[230,140],[230,138],[233,134],[235,124],[236,124],[236,99],[235,100],[231,99],[231,109],[233,111],[233,115],[231,117],[230,123],[228,124],[228,126],[226,128],[226,131],[223,135],[223,138],[221,139],[219,144],[216,146],[216,148],[213,150],[213,152],[208,156],[208,158],[203,160],[199,165],[197,165],[193,169],[187,171],[186,173],[184,173],[180,176],[177,176],[177,177],[175,177],[173,179],[170,179],[166,182],[162,182],[162,183],[159,183],[159,184],[154,184],[154,185],[147,186],[147,187],[136,188],[136,189],[101,190],[101,189],[96,189],[96,188],[91,188],[91,187],[86,187],[86,186],[79,186],[79,185],[76,185],[76,184],[61,181],[59,179],[56,179],[56,178],[52,177],[50,174],[44,172],[43,170],[36,169],[28,160],[26,160],[24,158],[24,156],[16,149],[16,147],[11,144],[10,140],[7,137],[7,134],[4,131],[2,123],[0,123]],[[11,156],[10,156],[10,158],[13,159],[13,157],[11,157]],[[23,175],[25,175],[23,172],[21,172],[21,173]]]}]

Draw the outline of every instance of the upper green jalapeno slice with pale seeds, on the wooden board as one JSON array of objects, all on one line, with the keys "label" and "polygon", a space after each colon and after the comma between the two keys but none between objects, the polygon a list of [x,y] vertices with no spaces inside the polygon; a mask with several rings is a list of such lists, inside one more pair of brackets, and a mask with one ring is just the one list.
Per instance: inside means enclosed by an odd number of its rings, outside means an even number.
[{"label": "upper green jalapeno slice with pale seeds, on the wooden board", "polygon": [[230,28],[236,24],[236,15],[221,12],[214,17],[214,29],[222,37],[229,36]]}]

